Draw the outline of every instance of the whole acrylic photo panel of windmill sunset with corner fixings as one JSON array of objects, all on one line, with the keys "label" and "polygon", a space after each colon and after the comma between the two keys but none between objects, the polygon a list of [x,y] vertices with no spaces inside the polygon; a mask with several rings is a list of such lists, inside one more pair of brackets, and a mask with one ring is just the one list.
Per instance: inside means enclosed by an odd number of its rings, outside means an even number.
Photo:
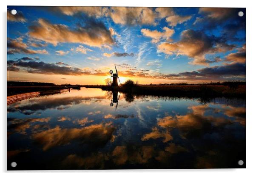
[{"label": "whole acrylic photo panel of windmill sunset with corner fixings", "polygon": [[245,168],[245,16],[7,6],[7,170]]}]

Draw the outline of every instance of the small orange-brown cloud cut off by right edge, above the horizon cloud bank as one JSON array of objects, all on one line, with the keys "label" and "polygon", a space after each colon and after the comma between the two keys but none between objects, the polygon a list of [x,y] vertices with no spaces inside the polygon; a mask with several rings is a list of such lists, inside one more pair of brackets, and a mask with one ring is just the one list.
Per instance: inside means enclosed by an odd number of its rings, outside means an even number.
[{"label": "small orange-brown cloud cut off by right edge, above the horizon cloud bank", "polygon": [[226,56],[226,61],[231,63],[245,63],[245,45],[238,49],[238,52],[230,53]]}]

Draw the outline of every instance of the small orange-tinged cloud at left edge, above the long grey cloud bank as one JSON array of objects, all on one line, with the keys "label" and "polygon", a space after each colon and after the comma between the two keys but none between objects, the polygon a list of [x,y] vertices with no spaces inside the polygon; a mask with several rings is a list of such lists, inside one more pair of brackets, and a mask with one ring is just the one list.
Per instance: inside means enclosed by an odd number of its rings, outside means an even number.
[{"label": "small orange-tinged cloud at left edge, above the long grey cloud bank", "polygon": [[46,50],[31,50],[26,43],[23,43],[23,38],[7,38],[7,54],[48,54]]}]

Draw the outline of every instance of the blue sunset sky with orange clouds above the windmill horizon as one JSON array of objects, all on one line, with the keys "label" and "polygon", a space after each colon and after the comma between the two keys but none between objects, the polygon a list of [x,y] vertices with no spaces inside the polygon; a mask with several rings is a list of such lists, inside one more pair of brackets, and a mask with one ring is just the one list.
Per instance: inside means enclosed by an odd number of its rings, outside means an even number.
[{"label": "blue sunset sky with orange clouds above the windmill horizon", "polygon": [[115,66],[121,83],[245,81],[245,8],[7,6],[8,81],[105,84]]}]

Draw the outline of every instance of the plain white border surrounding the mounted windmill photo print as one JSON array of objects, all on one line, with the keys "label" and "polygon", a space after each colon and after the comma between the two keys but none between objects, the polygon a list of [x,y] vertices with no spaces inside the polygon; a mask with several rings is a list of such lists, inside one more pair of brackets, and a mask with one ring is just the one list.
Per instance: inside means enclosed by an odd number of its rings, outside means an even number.
[{"label": "plain white border surrounding the mounted windmill photo print", "polygon": [[[186,175],[186,176],[216,176],[216,175],[254,175],[256,173],[255,166],[255,150],[256,150],[256,137],[255,137],[255,89],[256,89],[256,57],[255,57],[255,17],[256,17],[256,5],[252,0],[9,0],[0,1],[1,5],[1,39],[0,49],[2,58],[1,60],[1,140],[0,140],[0,170],[5,172],[4,174],[11,175],[34,175],[33,172],[37,172],[37,175],[45,176],[47,174],[55,174],[61,172],[62,175],[76,174],[90,174],[90,175],[131,175],[142,174],[148,175],[159,174],[172,174],[172,175]],[[148,6],[148,7],[245,7],[246,8],[246,169],[188,169],[188,170],[61,170],[61,171],[23,171],[23,172],[7,172],[6,173],[6,5],[46,5],[46,6]]]}]

